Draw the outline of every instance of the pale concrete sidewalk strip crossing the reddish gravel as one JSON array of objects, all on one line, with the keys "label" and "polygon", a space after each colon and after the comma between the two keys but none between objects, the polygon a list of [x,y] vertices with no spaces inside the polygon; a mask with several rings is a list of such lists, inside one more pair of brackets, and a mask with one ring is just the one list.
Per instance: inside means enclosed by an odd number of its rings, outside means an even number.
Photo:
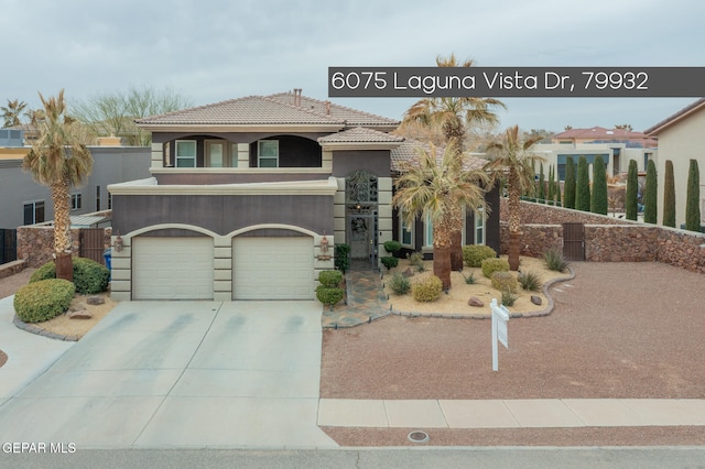
[{"label": "pale concrete sidewalk strip crossing the reddish gravel", "polygon": [[318,425],[373,428],[551,428],[705,425],[705,400],[322,399]]}]

